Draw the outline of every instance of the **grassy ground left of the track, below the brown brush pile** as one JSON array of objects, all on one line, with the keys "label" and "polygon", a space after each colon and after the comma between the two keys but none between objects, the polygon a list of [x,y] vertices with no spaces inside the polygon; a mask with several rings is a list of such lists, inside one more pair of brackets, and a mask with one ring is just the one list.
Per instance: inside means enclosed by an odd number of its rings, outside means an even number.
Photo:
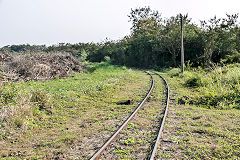
[{"label": "grassy ground left of the track, below the brown brush pile", "polygon": [[[0,159],[88,159],[149,85],[141,71],[106,64],[65,79],[2,85]],[[116,104],[130,97],[132,105]]]}]

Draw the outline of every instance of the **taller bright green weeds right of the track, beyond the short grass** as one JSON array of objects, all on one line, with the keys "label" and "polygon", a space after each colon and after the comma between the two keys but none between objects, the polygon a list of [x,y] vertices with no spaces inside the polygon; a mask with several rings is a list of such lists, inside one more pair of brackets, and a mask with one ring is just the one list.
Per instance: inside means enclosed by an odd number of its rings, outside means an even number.
[{"label": "taller bright green weeds right of the track, beyond the short grass", "polygon": [[[188,103],[205,108],[240,109],[240,68],[239,64],[215,67],[214,69],[195,68],[181,74],[172,69],[168,75],[180,83],[178,89],[188,95]],[[178,94],[178,99],[182,94]]]}]

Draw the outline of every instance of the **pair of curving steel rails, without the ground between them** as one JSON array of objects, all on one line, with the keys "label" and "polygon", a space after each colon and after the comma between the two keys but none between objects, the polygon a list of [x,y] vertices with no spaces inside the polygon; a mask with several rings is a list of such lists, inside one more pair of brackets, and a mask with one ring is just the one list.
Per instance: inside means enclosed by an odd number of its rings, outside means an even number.
[{"label": "pair of curving steel rails, without the ground between them", "polygon": [[[128,125],[129,121],[131,121],[133,119],[133,117],[135,116],[135,114],[142,108],[143,104],[149,99],[149,96],[150,94],[152,93],[153,91],[153,88],[155,87],[155,82],[154,82],[154,79],[153,79],[153,75],[158,75],[161,79],[163,79],[164,81],[164,84],[166,86],[166,107],[165,107],[165,111],[164,111],[164,116],[163,118],[161,119],[161,126],[160,126],[160,129],[158,131],[158,136],[157,136],[157,139],[155,140],[155,145],[151,151],[151,155],[149,156],[150,158],[149,159],[154,159],[154,156],[156,154],[156,151],[157,151],[157,146],[158,146],[158,143],[159,143],[159,140],[160,140],[160,137],[161,137],[161,134],[162,134],[162,130],[163,130],[163,125],[164,125],[164,122],[165,122],[165,119],[166,119],[166,116],[167,116],[167,109],[168,109],[168,101],[169,101],[169,88],[168,88],[168,84],[166,82],[166,80],[159,74],[157,73],[154,73],[154,74],[150,74],[148,72],[146,72],[150,78],[151,78],[151,87],[148,91],[148,93],[146,94],[145,98],[142,100],[142,102],[137,106],[137,108],[135,109],[135,111],[127,118],[127,120],[120,126],[120,128],[112,135],[112,137],[110,137],[106,142],[105,144],[98,150],[98,152],[96,152],[93,157],[91,158],[91,160],[96,160],[96,159],[99,159],[101,154],[104,152],[104,150],[106,150],[106,148],[116,139],[116,137],[119,135],[119,133]],[[152,147],[150,147],[152,148]]]}]

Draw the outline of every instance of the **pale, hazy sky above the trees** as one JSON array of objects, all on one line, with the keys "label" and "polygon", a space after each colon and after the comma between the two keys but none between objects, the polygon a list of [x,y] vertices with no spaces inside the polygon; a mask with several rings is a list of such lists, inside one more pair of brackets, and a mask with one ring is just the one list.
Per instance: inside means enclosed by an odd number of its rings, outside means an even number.
[{"label": "pale, hazy sky above the trees", "polygon": [[240,0],[0,0],[0,47],[117,40],[130,33],[131,8],[194,21],[240,12]]}]

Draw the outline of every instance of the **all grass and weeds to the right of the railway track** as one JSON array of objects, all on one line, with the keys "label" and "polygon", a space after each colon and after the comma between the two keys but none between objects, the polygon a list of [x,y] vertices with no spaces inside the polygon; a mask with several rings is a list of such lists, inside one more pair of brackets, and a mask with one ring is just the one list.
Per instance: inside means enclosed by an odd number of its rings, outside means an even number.
[{"label": "all grass and weeds to the right of the railway track", "polygon": [[240,159],[239,66],[161,72],[172,96],[162,158]]}]

